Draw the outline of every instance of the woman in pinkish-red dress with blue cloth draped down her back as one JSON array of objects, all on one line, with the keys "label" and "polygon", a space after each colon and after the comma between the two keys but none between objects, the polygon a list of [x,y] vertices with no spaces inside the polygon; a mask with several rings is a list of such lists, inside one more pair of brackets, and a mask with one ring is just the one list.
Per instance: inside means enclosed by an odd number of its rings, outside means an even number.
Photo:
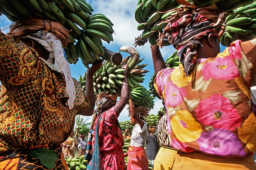
[{"label": "woman in pinkish-red dress with blue cloth draped down her back", "polygon": [[85,159],[88,170],[123,170],[125,168],[124,137],[117,120],[129,100],[130,90],[127,81],[128,64],[123,65],[125,76],[121,97],[99,94],[92,126],[89,130]]}]

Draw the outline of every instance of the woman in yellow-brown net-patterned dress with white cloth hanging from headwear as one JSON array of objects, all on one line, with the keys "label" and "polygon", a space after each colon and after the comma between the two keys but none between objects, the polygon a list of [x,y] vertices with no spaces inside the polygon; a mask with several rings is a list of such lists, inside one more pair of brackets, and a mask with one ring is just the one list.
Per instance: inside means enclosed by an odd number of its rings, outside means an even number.
[{"label": "woman in yellow-brown net-patterned dress with white cloth hanging from headwear", "polygon": [[68,170],[60,145],[77,114],[92,115],[93,74],[102,63],[87,70],[83,94],[64,53],[68,32],[37,18],[0,32],[0,169]]}]

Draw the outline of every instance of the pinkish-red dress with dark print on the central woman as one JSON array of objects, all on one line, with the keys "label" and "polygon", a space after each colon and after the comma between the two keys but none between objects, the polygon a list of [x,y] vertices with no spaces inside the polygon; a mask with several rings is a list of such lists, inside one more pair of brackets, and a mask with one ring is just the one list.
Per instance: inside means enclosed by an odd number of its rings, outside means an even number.
[{"label": "pinkish-red dress with dark print on the central woman", "polygon": [[[99,117],[99,149],[101,159],[101,169],[104,170],[123,170],[125,168],[125,158],[122,146],[124,146],[124,137],[118,126],[117,118],[114,107]],[[107,129],[107,126],[110,129]],[[95,126],[93,127],[93,134],[95,134]],[[94,146],[95,137],[92,138],[92,146]],[[93,149],[93,148],[92,148]],[[90,163],[89,163],[90,164]]]}]

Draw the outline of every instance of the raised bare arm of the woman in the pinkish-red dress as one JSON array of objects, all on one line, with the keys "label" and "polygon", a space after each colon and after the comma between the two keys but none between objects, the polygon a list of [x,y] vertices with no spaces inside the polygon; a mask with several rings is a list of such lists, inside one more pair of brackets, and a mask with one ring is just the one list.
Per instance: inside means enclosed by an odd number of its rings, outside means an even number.
[{"label": "raised bare arm of the woman in the pinkish-red dress", "polygon": [[117,102],[117,104],[114,106],[114,110],[118,116],[121,113],[121,111],[124,109],[126,103],[129,100],[129,96],[130,96],[130,90],[129,90],[128,80],[127,80],[128,63],[126,65],[124,65],[122,68],[125,69],[125,72],[123,73],[125,78],[124,78],[123,84],[122,84],[121,97],[120,97],[119,101]]}]

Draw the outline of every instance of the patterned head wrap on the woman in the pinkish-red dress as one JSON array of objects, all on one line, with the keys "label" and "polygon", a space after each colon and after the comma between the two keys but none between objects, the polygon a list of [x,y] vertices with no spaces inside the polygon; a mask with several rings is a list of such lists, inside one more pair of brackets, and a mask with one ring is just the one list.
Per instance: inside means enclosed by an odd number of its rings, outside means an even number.
[{"label": "patterned head wrap on the woman in the pinkish-red dress", "polygon": [[96,100],[96,109],[94,110],[93,121],[91,129],[93,128],[96,118],[102,113],[102,110],[108,106],[114,106],[117,101],[117,95],[103,95],[98,94]]}]

